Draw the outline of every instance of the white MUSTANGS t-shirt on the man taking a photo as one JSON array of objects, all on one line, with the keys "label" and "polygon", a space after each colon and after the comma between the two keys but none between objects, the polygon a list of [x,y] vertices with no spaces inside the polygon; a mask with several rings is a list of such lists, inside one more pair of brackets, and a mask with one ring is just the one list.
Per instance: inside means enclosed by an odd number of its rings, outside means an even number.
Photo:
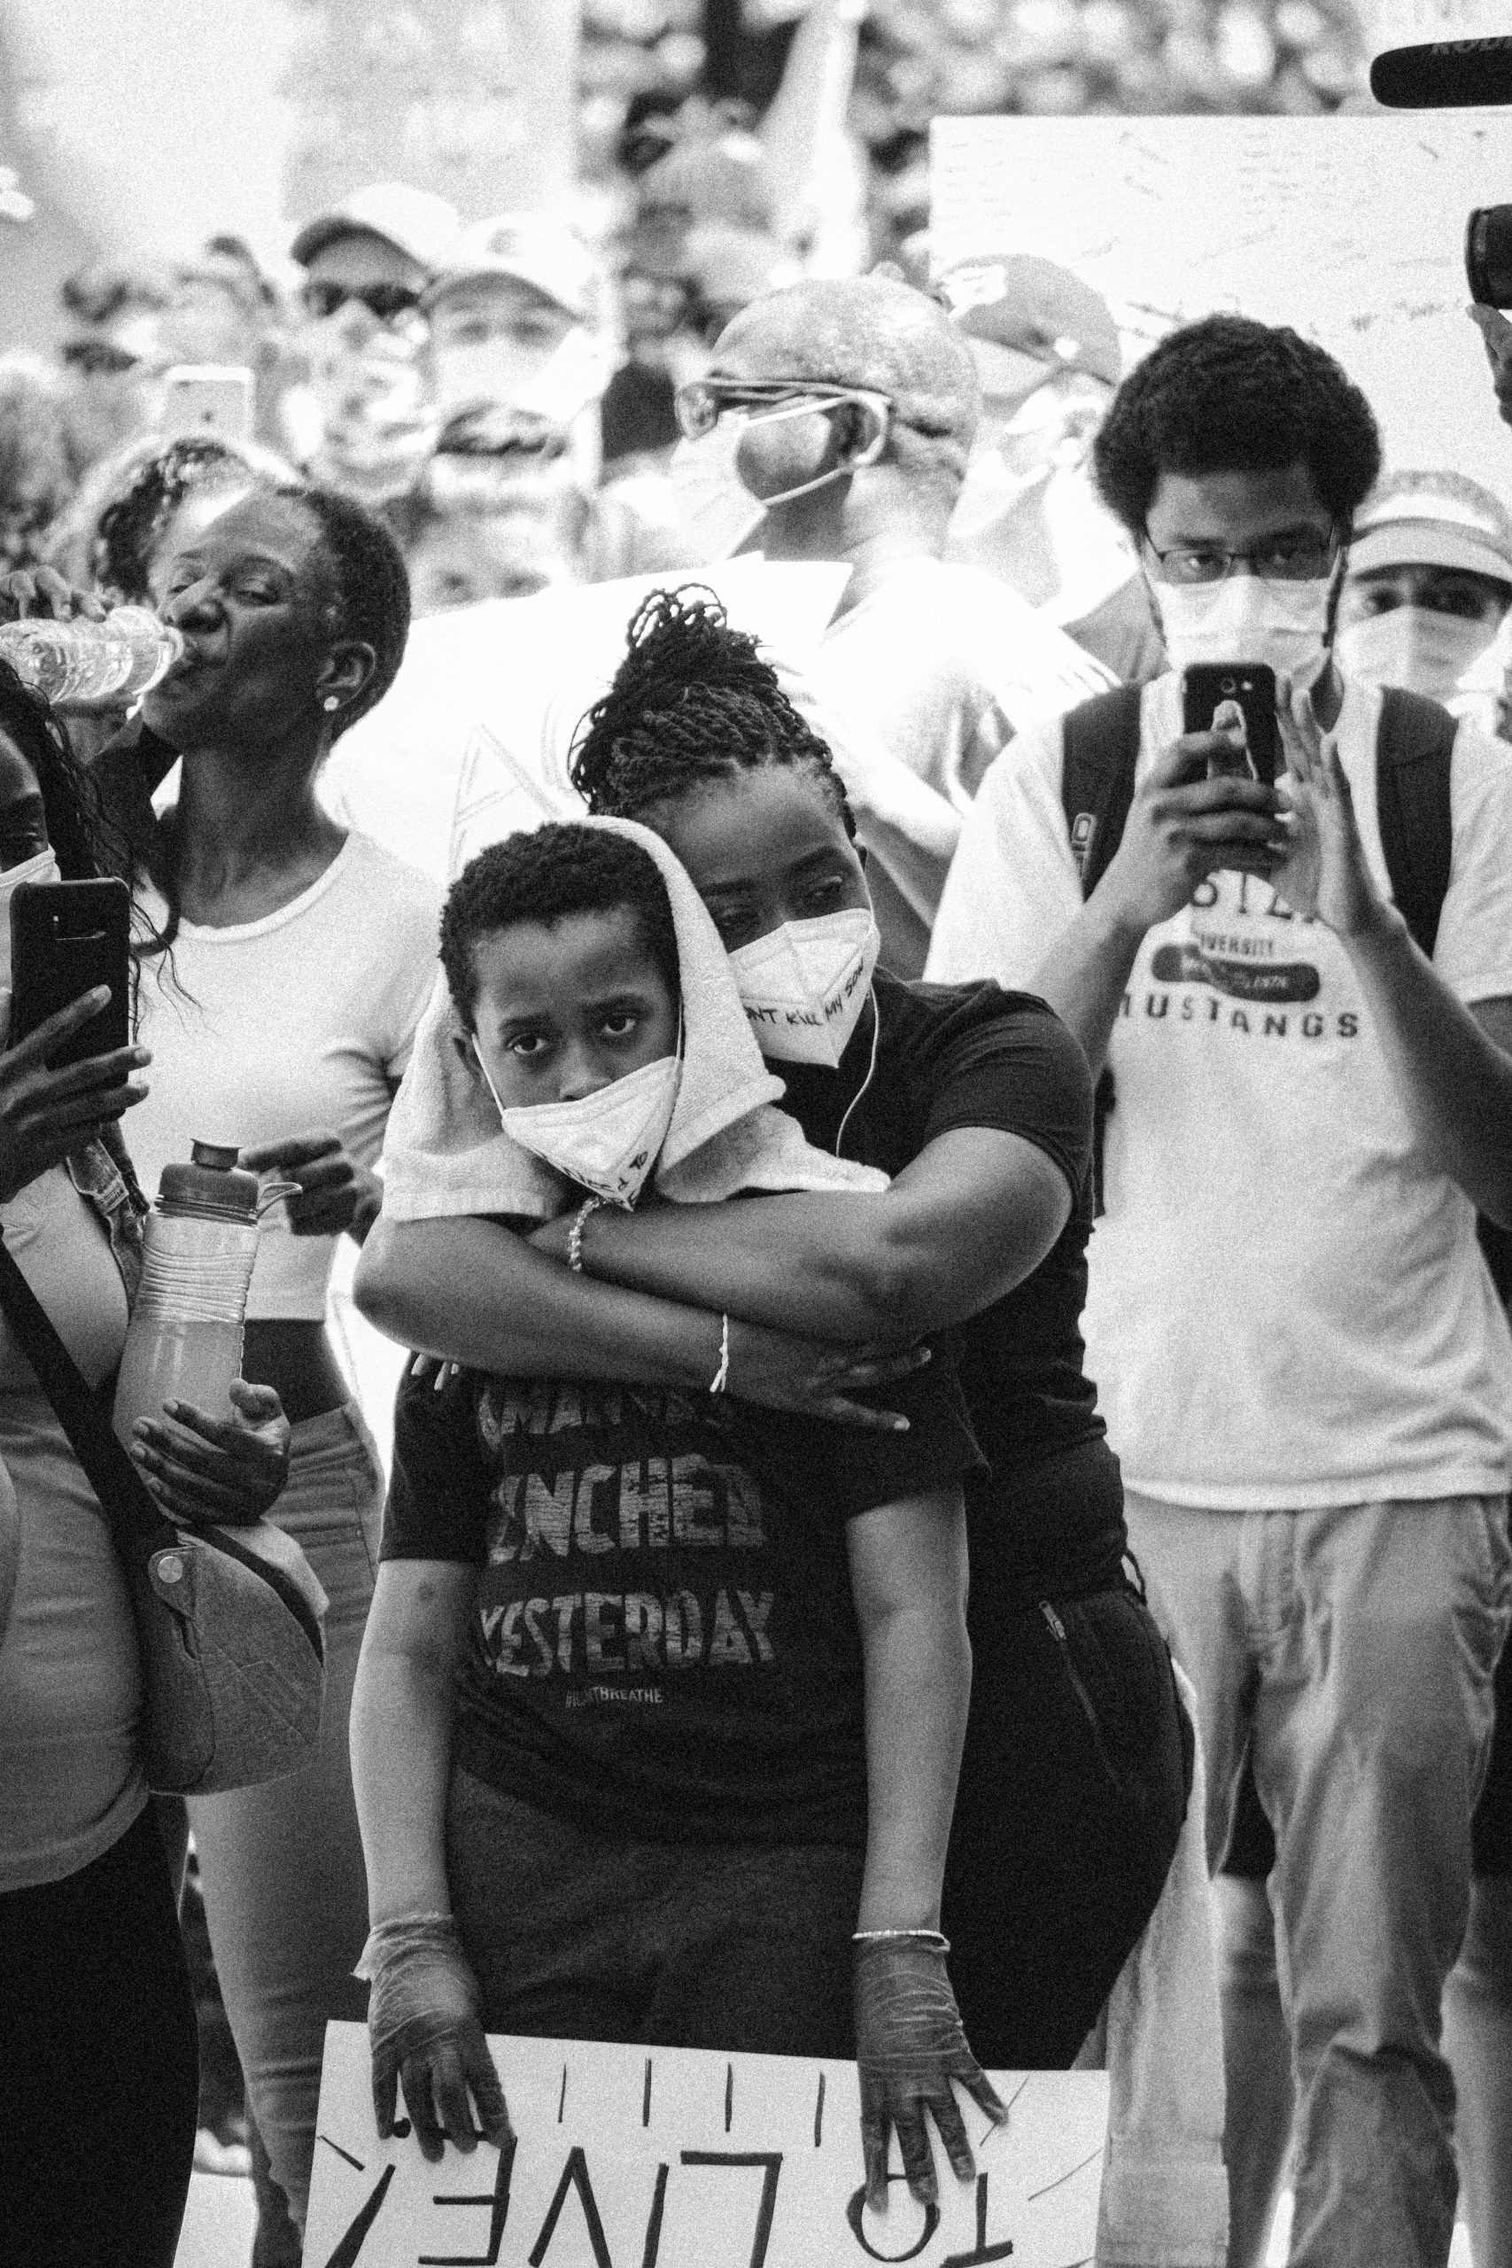
[{"label": "white MUSTANGS t-shirt on the man taking a photo", "polygon": [[[1337,746],[1376,882],[1381,694]],[[1140,769],[1181,730],[1145,687]],[[1081,907],[1061,723],[1022,733],[966,819],[929,975],[1025,984]],[[1460,726],[1435,968],[1512,996],[1512,748]],[[1417,1148],[1337,937],[1220,873],[1145,937],[1108,1048],[1088,1368],[1124,1479],[1213,1508],[1498,1495],[1512,1334],[1464,1193]]]}]

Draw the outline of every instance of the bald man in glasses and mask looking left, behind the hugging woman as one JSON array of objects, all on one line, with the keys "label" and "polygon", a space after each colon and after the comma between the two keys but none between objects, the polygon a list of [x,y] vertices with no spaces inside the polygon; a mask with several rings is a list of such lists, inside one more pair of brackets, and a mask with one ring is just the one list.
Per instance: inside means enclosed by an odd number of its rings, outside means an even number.
[{"label": "bald man in glasses and mask looking left, behind the hugging woman", "polygon": [[993,758],[1113,683],[1006,583],[941,558],[979,404],[945,311],[886,277],[755,299],[678,395],[673,485],[703,556],[852,569],[807,678],[848,742],[836,758],[873,853],[882,959],[900,978],[923,973],[961,814]]}]

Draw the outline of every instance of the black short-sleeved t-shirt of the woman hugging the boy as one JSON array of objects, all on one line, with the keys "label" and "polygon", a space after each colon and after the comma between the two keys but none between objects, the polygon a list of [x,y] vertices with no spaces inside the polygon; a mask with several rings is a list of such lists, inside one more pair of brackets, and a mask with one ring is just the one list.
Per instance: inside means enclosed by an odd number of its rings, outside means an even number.
[{"label": "black short-sleeved t-shirt of the woman hugging the boy", "polygon": [[[1059,1016],[1000,984],[904,984],[877,971],[877,1064],[861,1018],[839,1070],[782,1064],[782,1109],[812,1143],[902,1173],[957,1127],[1018,1134],[1061,1168],[1070,1220],[1040,1266],[943,1334],[991,1481],[972,1504],[972,1637],[986,1610],[1120,1581],[1127,1547],[1118,1458],[1086,1374],[1081,1309],[1093,1234],[1093,1077]],[[859,1098],[859,1100],[857,1100]],[[850,1105],[855,1102],[855,1109]]]}]

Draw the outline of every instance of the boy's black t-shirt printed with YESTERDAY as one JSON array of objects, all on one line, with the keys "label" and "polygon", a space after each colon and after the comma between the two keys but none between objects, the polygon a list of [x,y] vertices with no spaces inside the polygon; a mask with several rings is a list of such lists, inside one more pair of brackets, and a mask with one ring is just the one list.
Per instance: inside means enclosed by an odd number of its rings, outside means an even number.
[{"label": "boy's black t-shirt printed with YESTERDAY", "polygon": [[481,1567],[453,1762],[610,1837],[861,1846],[846,1522],[982,1465],[948,1359],[884,1406],[406,1379],[383,1558]]}]

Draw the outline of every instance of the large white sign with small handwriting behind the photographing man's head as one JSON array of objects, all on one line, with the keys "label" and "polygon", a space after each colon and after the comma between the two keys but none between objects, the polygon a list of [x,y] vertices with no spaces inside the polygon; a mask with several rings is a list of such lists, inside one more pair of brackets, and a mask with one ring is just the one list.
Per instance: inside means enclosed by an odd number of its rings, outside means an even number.
[{"label": "large white sign with small handwriting behind the photographing man's head", "polygon": [[1512,492],[1464,308],[1464,222],[1512,200],[1512,118],[936,118],[929,245],[1038,252],[1099,290],[1136,358],[1215,311],[1290,322],[1365,388],[1394,467]]}]

